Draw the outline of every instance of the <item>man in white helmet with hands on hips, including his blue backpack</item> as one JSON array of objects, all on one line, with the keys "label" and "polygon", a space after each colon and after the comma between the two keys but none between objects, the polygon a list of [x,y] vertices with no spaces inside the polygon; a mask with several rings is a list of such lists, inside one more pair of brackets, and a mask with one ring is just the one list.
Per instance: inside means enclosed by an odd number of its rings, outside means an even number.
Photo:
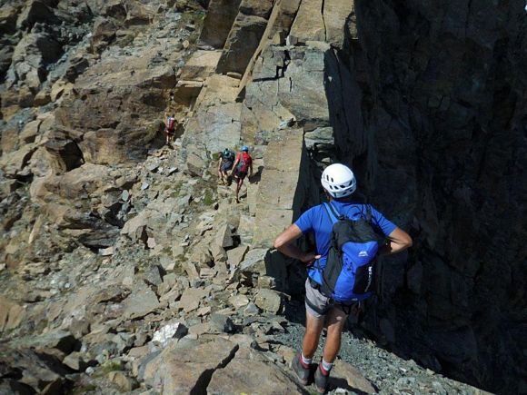
[{"label": "man in white helmet with hands on hips, including his blue backpack", "polygon": [[[292,368],[306,384],[325,324],[323,359],[314,374],[317,390],[324,392],[346,318],[350,312],[357,314],[361,301],[372,295],[375,258],[406,250],[412,246],[412,238],[371,205],[353,202],[356,181],[348,167],[340,163],[328,166],[321,182],[329,202],[304,212],[276,238],[274,247],[308,267],[303,348],[294,357]],[[314,252],[303,252],[294,243],[308,232],[314,232]],[[383,242],[378,242],[380,238]]]}]

